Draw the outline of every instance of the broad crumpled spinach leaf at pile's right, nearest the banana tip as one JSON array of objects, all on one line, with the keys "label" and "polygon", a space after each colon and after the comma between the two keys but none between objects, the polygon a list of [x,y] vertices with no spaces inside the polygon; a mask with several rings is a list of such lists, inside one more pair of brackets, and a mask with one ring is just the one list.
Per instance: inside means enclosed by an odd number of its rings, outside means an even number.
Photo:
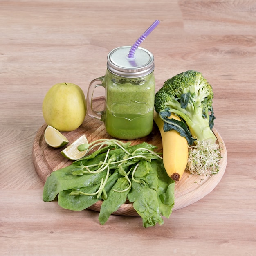
[{"label": "broad crumpled spinach leaf at pile's right, nearest the banana tip", "polygon": [[175,182],[166,174],[162,159],[150,162],[150,165],[150,171],[143,177],[146,183],[132,180],[132,189],[127,195],[144,227],[162,225],[161,216],[169,218],[174,205]]}]

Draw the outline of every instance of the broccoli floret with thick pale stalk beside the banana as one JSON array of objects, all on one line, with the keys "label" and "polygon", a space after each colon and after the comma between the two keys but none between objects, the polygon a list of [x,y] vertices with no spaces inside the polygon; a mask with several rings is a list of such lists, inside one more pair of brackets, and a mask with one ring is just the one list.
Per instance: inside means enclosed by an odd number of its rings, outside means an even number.
[{"label": "broccoli floret with thick pale stalk beside the banana", "polygon": [[171,119],[167,118],[172,112],[186,123],[195,143],[209,141],[213,144],[216,137],[212,131],[215,119],[212,102],[211,85],[202,73],[188,70],[164,82],[155,94],[155,111],[164,120],[165,130],[173,129]]}]

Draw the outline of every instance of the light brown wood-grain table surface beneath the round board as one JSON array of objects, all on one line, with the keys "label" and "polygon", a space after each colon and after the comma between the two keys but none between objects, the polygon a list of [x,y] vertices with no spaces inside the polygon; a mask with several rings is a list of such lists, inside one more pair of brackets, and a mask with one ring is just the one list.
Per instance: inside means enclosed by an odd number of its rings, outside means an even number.
[{"label": "light brown wood-grain table surface beneath the round board", "polygon": [[[256,4],[243,1],[0,1],[0,255],[256,255]],[[145,229],[140,217],[43,202],[32,145],[56,83],[87,92],[111,49],[143,42],[156,90],[195,69],[214,91],[227,168],[207,196]],[[142,45],[141,45],[142,46]],[[96,92],[96,96],[102,95]]]}]

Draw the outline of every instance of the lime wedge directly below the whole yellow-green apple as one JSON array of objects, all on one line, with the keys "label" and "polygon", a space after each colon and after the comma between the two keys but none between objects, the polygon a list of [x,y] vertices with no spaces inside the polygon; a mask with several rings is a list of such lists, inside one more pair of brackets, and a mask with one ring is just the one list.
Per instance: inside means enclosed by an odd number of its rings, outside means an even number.
[{"label": "lime wedge directly below the whole yellow-green apple", "polygon": [[49,125],[45,129],[45,142],[53,148],[61,148],[68,144],[67,138]]}]

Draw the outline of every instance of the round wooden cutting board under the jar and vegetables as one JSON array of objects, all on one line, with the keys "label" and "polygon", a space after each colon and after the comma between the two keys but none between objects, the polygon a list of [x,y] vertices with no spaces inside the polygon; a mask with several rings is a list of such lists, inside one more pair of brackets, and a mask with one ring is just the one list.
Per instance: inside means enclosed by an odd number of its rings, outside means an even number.
[{"label": "round wooden cutting board under the jar and vegetables", "polygon": [[[94,110],[101,111],[103,109],[104,99],[99,97],[94,99],[93,108]],[[33,162],[38,175],[45,182],[47,177],[53,171],[72,164],[71,160],[64,158],[61,155],[63,148],[52,148],[48,146],[44,139],[45,128],[44,124],[37,132],[33,144]],[[208,193],[210,193],[220,182],[226,166],[227,166],[227,151],[225,143],[220,137],[220,134],[215,128],[213,132],[218,139],[218,143],[221,145],[221,160],[220,160],[220,171],[218,174],[204,177],[199,175],[190,175],[188,171],[182,175],[179,182],[175,184],[175,206],[173,211],[186,207],[198,200],[202,199]],[[96,139],[111,139],[112,137],[106,133],[103,122],[92,119],[90,116],[86,116],[83,124],[72,132],[62,132],[63,135],[70,141],[78,139],[81,135],[85,134],[88,142],[92,142]],[[149,144],[157,146],[157,151],[162,152],[162,139],[157,126],[154,124],[153,131],[147,137],[131,141],[132,144],[139,144],[146,141]],[[69,145],[67,144],[67,146]],[[94,211],[100,211],[101,201],[92,205],[88,209]],[[133,208],[131,203],[121,205],[121,207],[113,214],[126,215],[126,216],[138,216],[137,212]]]}]

